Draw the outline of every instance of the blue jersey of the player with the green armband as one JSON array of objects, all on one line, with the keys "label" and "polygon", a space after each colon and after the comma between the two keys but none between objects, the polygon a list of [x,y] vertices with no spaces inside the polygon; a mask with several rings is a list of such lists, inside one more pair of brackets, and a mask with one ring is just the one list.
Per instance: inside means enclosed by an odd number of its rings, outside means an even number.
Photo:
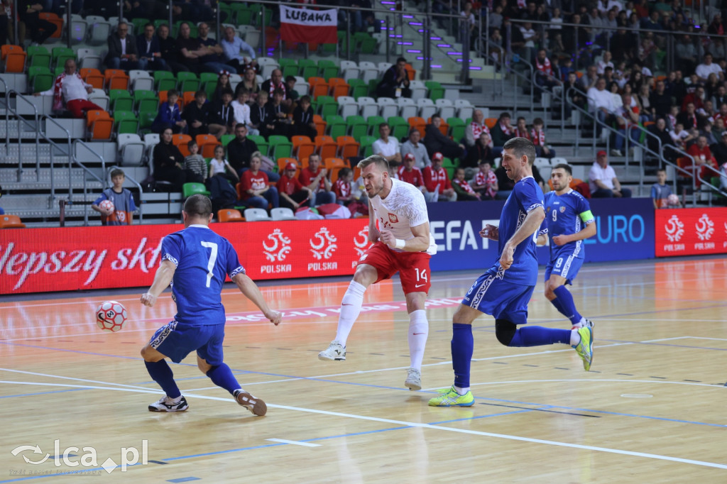
[{"label": "blue jersey of the player with the green armband", "polygon": [[556,235],[571,235],[583,230],[588,224],[595,222],[590,211],[590,204],[583,195],[576,190],[569,190],[563,195],[554,191],[545,195],[545,222],[550,238],[550,260],[555,260],[561,254],[573,254],[578,259],[585,256],[583,241],[573,241],[562,246],[553,243]]}]

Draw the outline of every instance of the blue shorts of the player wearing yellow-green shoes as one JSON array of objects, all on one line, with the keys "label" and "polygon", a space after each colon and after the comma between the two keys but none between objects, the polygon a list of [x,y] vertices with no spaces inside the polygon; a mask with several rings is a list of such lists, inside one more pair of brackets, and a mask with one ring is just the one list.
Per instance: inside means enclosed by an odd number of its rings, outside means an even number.
[{"label": "blue shorts of the player wearing yellow-green shoes", "polygon": [[502,275],[488,270],[473,283],[462,304],[493,315],[495,319],[526,324],[533,289],[535,286],[503,281]]}]

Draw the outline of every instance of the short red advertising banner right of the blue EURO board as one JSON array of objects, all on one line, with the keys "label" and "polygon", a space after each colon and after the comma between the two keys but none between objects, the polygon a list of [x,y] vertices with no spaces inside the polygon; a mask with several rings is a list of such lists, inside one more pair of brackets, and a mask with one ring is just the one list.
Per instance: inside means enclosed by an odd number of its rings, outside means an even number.
[{"label": "short red advertising banner right of the blue EURO board", "polygon": [[727,209],[660,209],[654,214],[656,257],[727,253]]}]

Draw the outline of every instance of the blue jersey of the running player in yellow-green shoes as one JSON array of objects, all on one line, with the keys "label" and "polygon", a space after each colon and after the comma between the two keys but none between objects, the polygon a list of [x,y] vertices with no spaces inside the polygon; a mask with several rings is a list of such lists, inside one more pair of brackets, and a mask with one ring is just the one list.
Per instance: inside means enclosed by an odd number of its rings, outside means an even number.
[{"label": "blue jersey of the running player in yellow-green shoes", "polygon": [[[505,206],[502,208],[502,214],[500,214],[497,261],[495,261],[491,270],[502,273],[499,258],[502,256],[505,243],[517,232],[525,221],[525,217],[528,216],[529,211],[542,210],[543,207],[543,192],[533,177],[525,177],[515,183],[513,193],[510,193],[510,196],[507,197]],[[529,286],[534,286],[537,283],[538,258],[535,241],[539,232],[540,230],[537,230],[532,234],[532,237],[518,244],[513,255],[513,265],[505,270],[502,275],[503,280]]]}]

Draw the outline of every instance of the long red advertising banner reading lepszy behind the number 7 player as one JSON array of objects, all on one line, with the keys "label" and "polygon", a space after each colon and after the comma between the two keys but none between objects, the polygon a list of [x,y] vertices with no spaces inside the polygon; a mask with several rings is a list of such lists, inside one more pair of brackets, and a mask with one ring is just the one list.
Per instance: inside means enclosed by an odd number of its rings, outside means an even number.
[{"label": "long red advertising banner reading lepszy behind the number 7 player", "polygon": [[[253,279],[353,274],[368,219],[214,223]],[[149,286],[181,225],[0,230],[0,294]]]}]

